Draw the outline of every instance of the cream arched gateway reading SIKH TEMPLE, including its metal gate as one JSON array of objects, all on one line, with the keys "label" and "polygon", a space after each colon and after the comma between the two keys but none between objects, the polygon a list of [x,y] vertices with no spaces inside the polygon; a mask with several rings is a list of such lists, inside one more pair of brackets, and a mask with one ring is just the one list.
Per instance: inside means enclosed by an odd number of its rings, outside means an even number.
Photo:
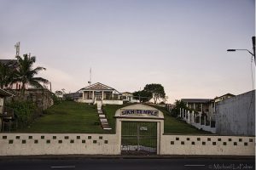
[{"label": "cream arched gateway reading SIKH TEMPLE, including its metal gate", "polygon": [[159,154],[164,114],[149,105],[129,105],[115,112],[122,154]]}]

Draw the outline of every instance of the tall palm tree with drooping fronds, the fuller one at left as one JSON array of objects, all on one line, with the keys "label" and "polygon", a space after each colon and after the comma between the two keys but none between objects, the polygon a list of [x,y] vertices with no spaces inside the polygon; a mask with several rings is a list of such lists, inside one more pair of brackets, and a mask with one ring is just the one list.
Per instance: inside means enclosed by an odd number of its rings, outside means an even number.
[{"label": "tall palm tree with drooping fronds, the fuller one at left", "polygon": [[33,64],[36,62],[35,56],[23,55],[23,58],[16,56],[18,68],[15,71],[14,82],[21,82],[21,96],[25,94],[26,84],[31,85],[35,88],[44,88],[40,82],[48,83],[49,81],[42,77],[34,77],[38,74],[38,71],[45,71],[44,67],[38,66],[33,69]]}]

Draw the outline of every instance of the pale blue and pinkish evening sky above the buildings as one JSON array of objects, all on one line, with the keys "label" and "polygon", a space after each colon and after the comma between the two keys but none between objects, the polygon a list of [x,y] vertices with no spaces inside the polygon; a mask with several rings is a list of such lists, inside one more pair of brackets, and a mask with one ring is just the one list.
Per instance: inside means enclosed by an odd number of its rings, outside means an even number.
[{"label": "pale blue and pinkish evening sky above the buildings", "polygon": [[243,94],[252,56],[226,50],[252,50],[254,35],[254,0],[0,0],[0,59],[20,42],[67,93],[88,86],[91,68],[92,83],[119,92],[160,83],[168,103]]}]

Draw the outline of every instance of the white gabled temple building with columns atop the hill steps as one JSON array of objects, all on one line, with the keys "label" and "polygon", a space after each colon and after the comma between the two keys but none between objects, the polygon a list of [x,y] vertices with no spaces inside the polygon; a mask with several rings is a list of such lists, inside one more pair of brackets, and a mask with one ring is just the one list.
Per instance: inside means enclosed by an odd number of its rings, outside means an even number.
[{"label": "white gabled temple building with columns atop the hill steps", "polygon": [[79,89],[76,93],[76,97],[78,95],[79,99],[75,99],[78,102],[95,104],[96,101],[102,101],[102,104],[123,104],[123,100],[119,99],[121,94],[116,89],[110,88],[100,82],[96,82],[90,86]]}]

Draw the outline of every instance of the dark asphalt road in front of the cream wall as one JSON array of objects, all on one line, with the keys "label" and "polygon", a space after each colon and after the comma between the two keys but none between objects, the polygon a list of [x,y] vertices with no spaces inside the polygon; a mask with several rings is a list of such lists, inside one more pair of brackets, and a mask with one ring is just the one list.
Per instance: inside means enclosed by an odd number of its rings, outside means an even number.
[{"label": "dark asphalt road in front of the cream wall", "polygon": [[169,158],[169,159],[3,159],[1,170],[164,170],[164,169],[208,169],[239,170],[255,169],[254,159],[209,159],[209,158]]}]

